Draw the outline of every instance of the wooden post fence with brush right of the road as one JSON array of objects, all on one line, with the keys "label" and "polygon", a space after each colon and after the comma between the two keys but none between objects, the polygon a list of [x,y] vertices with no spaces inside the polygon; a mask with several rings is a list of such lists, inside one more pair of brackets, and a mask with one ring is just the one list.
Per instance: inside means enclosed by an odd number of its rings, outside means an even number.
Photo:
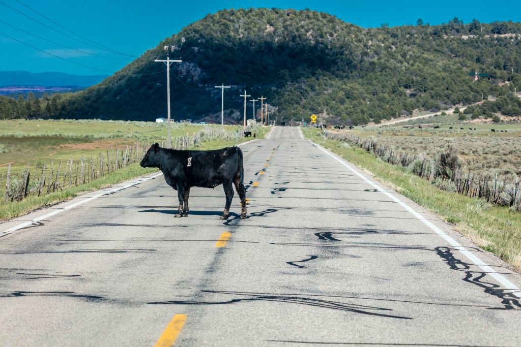
[{"label": "wooden post fence with brush right of the road", "polygon": [[326,137],[362,148],[382,161],[403,166],[441,189],[455,191],[471,198],[481,198],[493,204],[506,205],[512,210],[521,211],[519,177],[507,182],[498,180],[497,174],[479,175],[465,170],[453,148],[441,152],[437,158],[423,158],[379,144],[374,138],[362,138],[332,131],[326,131]]}]

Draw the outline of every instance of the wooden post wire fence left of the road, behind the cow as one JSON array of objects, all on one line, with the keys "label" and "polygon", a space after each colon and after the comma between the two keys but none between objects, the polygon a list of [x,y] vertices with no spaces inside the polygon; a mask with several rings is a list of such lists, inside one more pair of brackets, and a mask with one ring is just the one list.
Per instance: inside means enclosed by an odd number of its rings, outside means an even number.
[{"label": "wooden post wire fence left of the road, behind the cow", "polygon": [[[172,149],[190,149],[207,140],[234,140],[244,136],[244,131],[232,132],[205,127],[197,133],[176,136]],[[55,191],[80,186],[106,176],[116,170],[141,161],[154,143],[149,139],[138,141],[124,148],[99,151],[97,156],[81,157],[79,160],[52,160],[27,163],[25,169],[14,174],[11,164],[0,174],[0,205],[21,201],[28,196],[42,196]],[[165,147],[165,140],[160,143]]]}]

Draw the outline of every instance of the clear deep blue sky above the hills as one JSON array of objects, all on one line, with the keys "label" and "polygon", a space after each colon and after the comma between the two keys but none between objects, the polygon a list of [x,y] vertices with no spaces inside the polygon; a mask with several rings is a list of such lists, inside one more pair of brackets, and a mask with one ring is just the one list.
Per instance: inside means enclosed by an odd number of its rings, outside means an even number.
[{"label": "clear deep blue sky above the hills", "polygon": [[[379,27],[382,23],[388,23],[390,26],[414,24],[418,18],[431,25],[448,22],[454,17],[465,23],[474,18],[485,23],[495,20],[521,21],[521,6],[518,1],[0,0],[0,33],[10,36],[0,34],[0,70],[111,74],[130,62],[132,57],[138,57],[146,49],[155,47],[165,37],[179,32],[206,14],[227,8],[251,7],[309,8],[327,12],[364,28]],[[83,38],[68,30],[82,35]],[[73,40],[57,31],[83,42]],[[49,43],[31,34],[66,47]],[[129,56],[108,53],[99,46],[89,45],[92,42]],[[74,61],[76,64],[50,56],[38,49]]]}]

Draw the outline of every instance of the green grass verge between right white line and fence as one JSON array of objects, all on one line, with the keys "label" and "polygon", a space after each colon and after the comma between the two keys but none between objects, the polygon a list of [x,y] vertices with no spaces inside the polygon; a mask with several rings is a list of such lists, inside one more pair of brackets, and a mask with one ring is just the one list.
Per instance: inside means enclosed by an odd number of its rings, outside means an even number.
[{"label": "green grass verge between right white line and fence", "polygon": [[317,131],[306,131],[304,134],[453,224],[458,232],[482,249],[521,269],[521,213],[440,190],[405,168],[382,162],[362,149],[342,146],[339,141],[327,139],[324,145]]}]

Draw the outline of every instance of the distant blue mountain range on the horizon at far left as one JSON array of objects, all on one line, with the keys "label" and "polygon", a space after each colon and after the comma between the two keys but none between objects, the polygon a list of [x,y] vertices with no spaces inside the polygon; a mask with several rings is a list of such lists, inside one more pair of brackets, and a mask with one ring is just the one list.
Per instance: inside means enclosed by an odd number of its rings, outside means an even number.
[{"label": "distant blue mountain range on the horizon at far left", "polygon": [[90,87],[103,81],[105,75],[71,75],[63,72],[32,73],[28,71],[0,71],[0,87],[6,86],[45,86]]}]

